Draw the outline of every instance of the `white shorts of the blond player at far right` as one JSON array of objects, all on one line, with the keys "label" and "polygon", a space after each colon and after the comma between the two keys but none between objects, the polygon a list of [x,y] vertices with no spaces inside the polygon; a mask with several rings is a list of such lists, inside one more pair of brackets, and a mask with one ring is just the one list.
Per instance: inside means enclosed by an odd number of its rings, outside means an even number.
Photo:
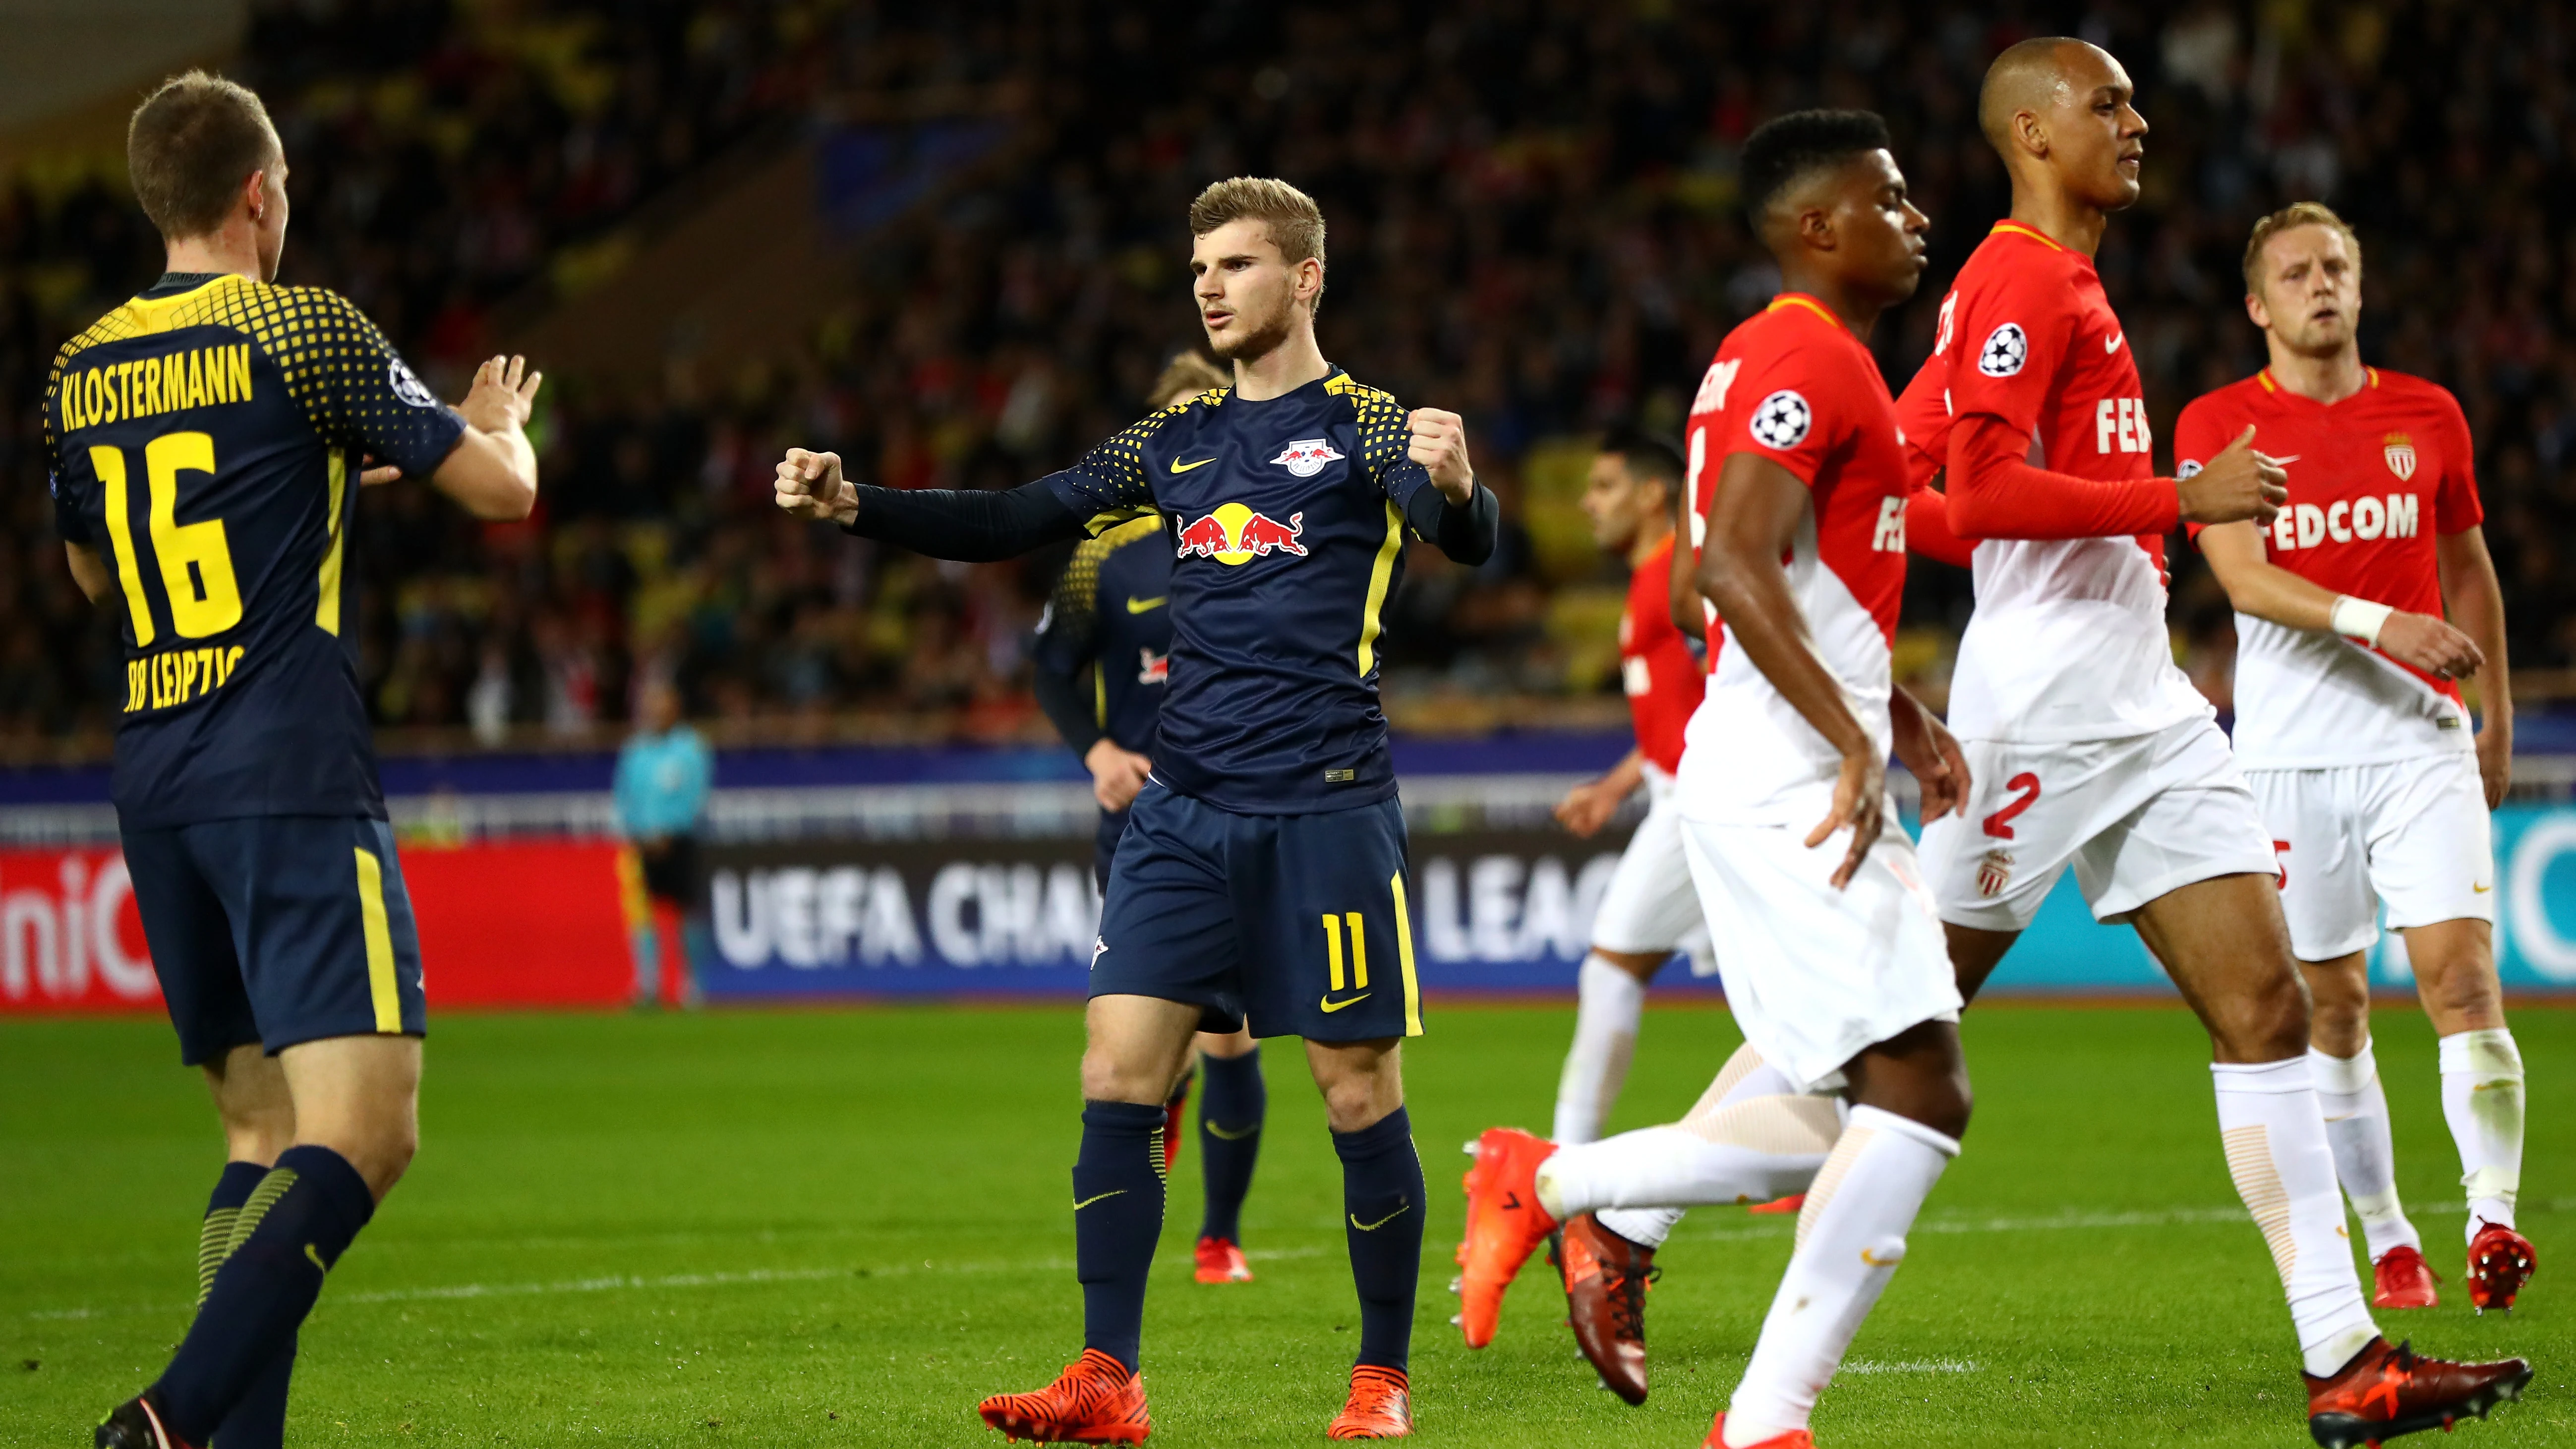
[{"label": "white shorts of the blond player at far right", "polygon": [[2246,770],[2280,852],[2298,960],[2334,960],[2388,929],[2496,919],[2496,844],[2478,757],[2419,754],[2336,770]]}]

